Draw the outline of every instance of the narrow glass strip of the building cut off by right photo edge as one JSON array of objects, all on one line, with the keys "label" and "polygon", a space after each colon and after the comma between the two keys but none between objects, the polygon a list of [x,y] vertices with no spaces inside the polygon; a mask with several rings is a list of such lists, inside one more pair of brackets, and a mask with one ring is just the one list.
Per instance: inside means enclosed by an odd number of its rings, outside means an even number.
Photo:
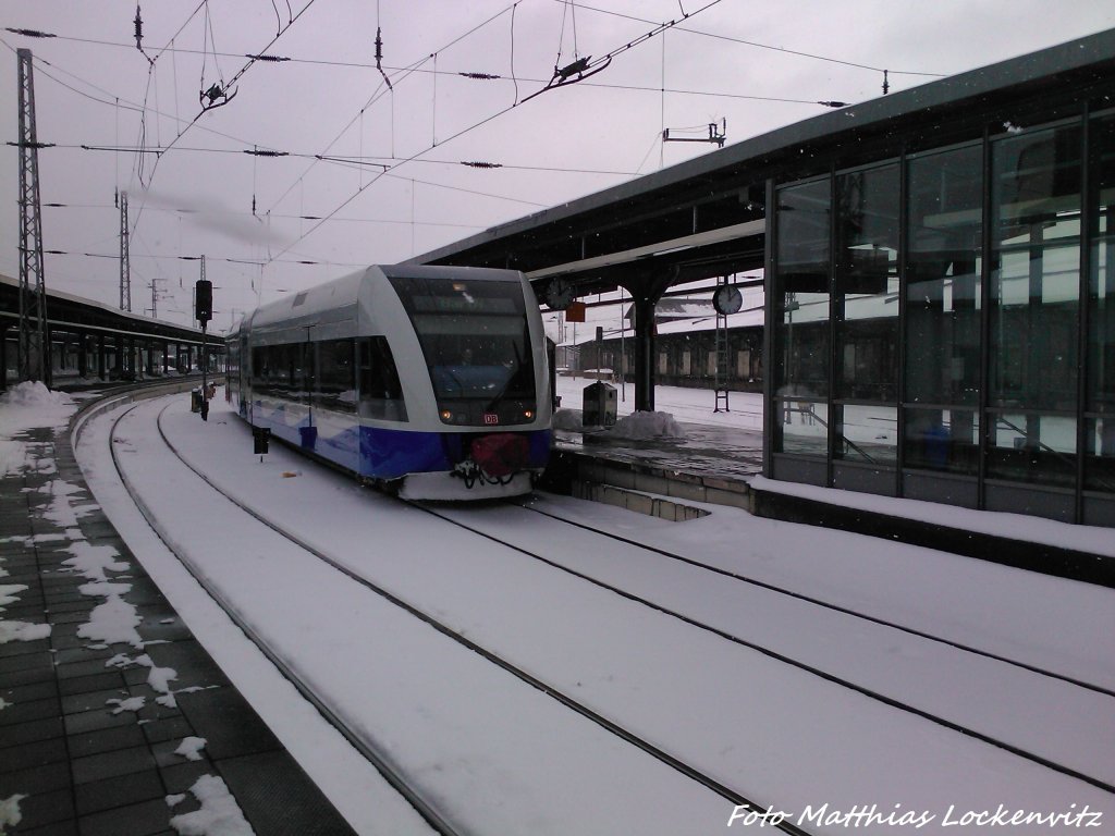
[{"label": "narrow glass strip of the building cut off by right photo edge", "polygon": [[1115,117],[1093,121],[1085,487],[1115,492]]}]

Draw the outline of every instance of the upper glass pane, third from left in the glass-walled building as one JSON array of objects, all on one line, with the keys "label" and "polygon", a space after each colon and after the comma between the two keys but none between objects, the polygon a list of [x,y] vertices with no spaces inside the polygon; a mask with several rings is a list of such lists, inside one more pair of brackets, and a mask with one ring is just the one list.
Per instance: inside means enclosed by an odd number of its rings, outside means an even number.
[{"label": "upper glass pane, third from left in the glass-walled building", "polygon": [[[982,149],[975,145],[917,157],[908,172],[905,401],[976,406]],[[938,422],[944,426],[943,414]]]}]

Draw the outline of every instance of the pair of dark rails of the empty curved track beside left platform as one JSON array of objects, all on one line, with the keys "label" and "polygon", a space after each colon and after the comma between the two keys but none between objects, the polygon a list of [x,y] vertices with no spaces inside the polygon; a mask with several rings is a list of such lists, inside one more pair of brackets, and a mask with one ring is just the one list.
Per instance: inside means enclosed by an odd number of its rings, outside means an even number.
[{"label": "pair of dark rails of the empty curved track beside left platform", "polygon": [[[136,405],[138,406],[138,405]],[[260,635],[260,633],[252,626],[252,624],[244,619],[235,607],[235,605],[226,600],[222,594],[221,590],[215,586],[206,576],[204,572],[198,571],[197,566],[191,560],[188,550],[183,548],[180,544],[175,542],[173,536],[165,533],[164,527],[159,524],[157,517],[152,513],[151,508],[144,502],[143,497],[139,495],[133,485],[130,479],[126,474],[126,468],[120,464],[119,456],[117,455],[115,437],[117,427],[120,422],[136,408],[133,406],[117,416],[113,421],[113,429],[109,434],[113,461],[119,475],[122,483],[127,489],[133,502],[135,502],[136,507],[140,511],[144,518],[147,521],[148,525],[158,535],[158,537],[164,542],[167,548],[176,556],[176,558],[183,564],[183,566],[190,572],[190,574],[202,585],[203,589],[213,597],[213,600],[227,613],[229,618],[243,630],[244,634],[256,645],[259,649],[277,665],[277,668],[282,672],[282,674],[298,689],[302,696],[310,701],[318,711],[327,719],[327,721],[333,726],[355,748],[357,748],[379,771],[385,779],[395,789],[410,803],[419,815],[430,825],[430,827],[439,834],[445,836],[453,836],[455,834],[462,834],[463,830],[452,822],[448,814],[440,809],[440,806],[432,801],[427,794],[424,793],[414,780],[411,780],[404,770],[401,770],[392,760],[392,758],[386,754],[381,747],[377,746],[375,742],[366,739],[363,735],[359,731],[352,729],[349,723],[347,723],[343,718],[334,712],[328,702],[321,694],[317,692],[312,683],[301,674],[297,665],[287,661],[281,652],[278,652],[271,648],[268,642]],[[695,781],[696,784],[707,788],[708,790],[715,793],[716,795],[724,798],[726,801],[730,803],[737,811],[753,810],[762,819],[762,813],[764,810],[774,809],[768,804],[759,803],[736,789],[726,786],[716,778],[707,775],[700,769],[685,762],[682,759],[675,757],[670,752],[666,751],[663,748],[656,746],[650,740],[630,731],[622,725],[615,722],[614,720],[605,717],[604,715],[593,710],[588,704],[579,701],[570,693],[562,691],[561,689],[554,687],[552,683],[545,682],[539,677],[532,674],[520,665],[516,665],[512,661],[501,657],[500,654],[493,652],[492,650],[474,642],[467,638],[459,630],[454,629],[446,622],[439,620],[434,614],[423,611],[420,607],[403,600],[398,595],[394,594],[384,586],[375,583],[374,581],[362,576],[358,572],[355,572],[349,566],[345,565],[336,556],[326,553],[323,550],[306,542],[303,538],[298,536],[295,533],[288,531],[281,524],[268,518],[265,515],[259,513],[256,509],[250,507],[248,504],[242,503],[236,497],[232,496],[227,492],[223,490],[217,484],[215,484],[206,474],[202,473],[200,469],[194,467],[177,449],[177,447],[167,437],[163,427],[163,415],[168,407],[164,407],[156,419],[158,425],[158,432],[174,456],[182,463],[182,465],[188,468],[194,475],[204,480],[216,494],[220,494],[225,500],[236,506],[244,514],[251,516],[253,519],[265,525],[271,531],[275,532],[280,536],[295,544],[298,547],[303,550],[308,555],[312,555],[318,561],[330,566],[332,570],[343,574],[347,579],[359,584],[361,587],[375,593],[382,600],[390,603],[392,606],[406,612],[408,615],[419,620],[426,625],[436,630],[439,634],[450,639],[460,647],[478,654],[487,662],[497,667],[500,670],[510,673],[521,682],[532,687],[540,693],[545,694],[547,698],[559,702],[571,711],[575,712],[580,717],[590,720],[600,728],[615,736],[623,742],[637,748],[638,750],[651,756],[661,764],[668,766],[686,778]],[[404,500],[399,500],[404,502]],[[740,816],[743,822],[743,816]],[[809,836],[808,832],[798,827],[791,820],[786,820],[782,817],[775,816],[773,818],[765,819],[767,827],[772,827],[782,830],[786,834],[792,834],[792,836]]]}]

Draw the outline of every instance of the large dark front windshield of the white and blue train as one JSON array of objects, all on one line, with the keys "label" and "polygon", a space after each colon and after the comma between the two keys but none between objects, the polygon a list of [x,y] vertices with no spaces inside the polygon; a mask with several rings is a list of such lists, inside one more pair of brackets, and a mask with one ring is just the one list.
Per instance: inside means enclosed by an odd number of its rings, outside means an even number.
[{"label": "large dark front windshield of the white and blue train", "polygon": [[418,333],[439,405],[472,401],[494,410],[503,401],[532,401],[533,409],[534,363],[518,282],[390,281]]}]

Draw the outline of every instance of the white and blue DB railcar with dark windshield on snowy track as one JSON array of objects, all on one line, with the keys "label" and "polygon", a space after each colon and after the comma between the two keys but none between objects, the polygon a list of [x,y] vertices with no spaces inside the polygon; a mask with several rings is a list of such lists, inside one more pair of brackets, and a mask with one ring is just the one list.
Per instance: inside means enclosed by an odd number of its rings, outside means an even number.
[{"label": "white and blue DB railcar with dark windshield on snowy track", "polygon": [[226,349],[253,428],[404,498],[521,495],[547,464],[553,382],[521,272],[369,266],[260,307]]}]

